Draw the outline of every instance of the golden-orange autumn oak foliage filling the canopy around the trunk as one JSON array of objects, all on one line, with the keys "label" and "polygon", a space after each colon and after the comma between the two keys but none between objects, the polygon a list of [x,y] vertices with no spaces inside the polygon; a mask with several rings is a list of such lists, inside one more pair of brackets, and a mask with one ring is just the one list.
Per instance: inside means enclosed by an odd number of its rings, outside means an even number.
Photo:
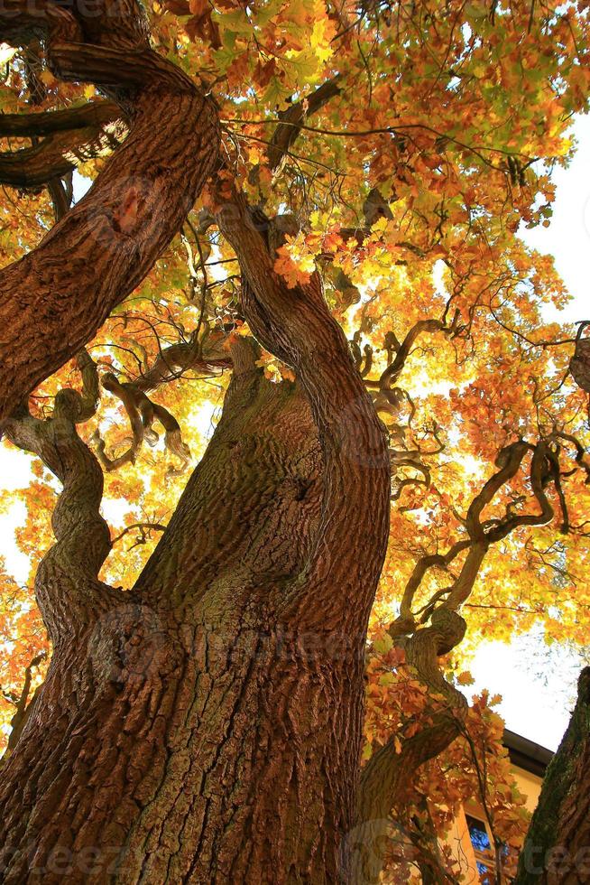
[{"label": "golden-orange autumn oak foliage filling the canopy around the trunk", "polygon": [[[400,881],[423,870],[432,839],[469,797],[480,797],[494,837],[511,846],[509,872],[526,832],[498,699],[470,696],[475,649],[531,629],[548,644],[587,641],[587,394],[569,374],[576,328],[558,319],[570,295],[552,258],[519,232],[550,224],[551,172],[576,148],[569,126],[587,109],[589,8],[584,0],[146,8],[152,48],[215,98],[222,146],[178,235],[86,345],[102,384],[78,433],[105,471],[113,542],[100,579],[126,590],[142,573],[217,424],[235,341],[252,335],[242,269],[217,224],[237,185],[283,284],[296,293],[321,275],[389,441],[390,541],[366,645],[364,764],[391,740],[402,757],[452,707],[454,695],[425,681],[404,643],[438,606],[466,620],[466,637],[437,657],[469,709],[457,708],[454,740],[423,760],[391,809],[405,835],[385,862]],[[93,85],[54,76],[41,43],[3,43],[0,55],[6,121],[106,101]],[[40,137],[7,126],[0,116],[2,265],[54,224],[55,188],[69,204],[75,170],[79,199],[126,132],[115,114],[75,154],[64,150],[71,169],[51,179],[51,191],[25,176],[11,182],[8,167],[20,152],[25,169],[57,135],[41,136],[39,147]],[[132,233],[138,187],[122,193],[119,224]],[[257,365],[278,385],[297,380],[269,350]],[[82,390],[79,359],[32,392],[32,415],[51,416],[63,387]],[[38,458],[30,468],[29,484],[2,505],[5,519],[23,515],[15,542],[30,563],[26,580],[6,565],[0,572],[5,743],[27,667],[35,662],[31,698],[51,656],[32,585],[52,544],[60,483]],[[457,874],[450,855],[437,863]]]}]

